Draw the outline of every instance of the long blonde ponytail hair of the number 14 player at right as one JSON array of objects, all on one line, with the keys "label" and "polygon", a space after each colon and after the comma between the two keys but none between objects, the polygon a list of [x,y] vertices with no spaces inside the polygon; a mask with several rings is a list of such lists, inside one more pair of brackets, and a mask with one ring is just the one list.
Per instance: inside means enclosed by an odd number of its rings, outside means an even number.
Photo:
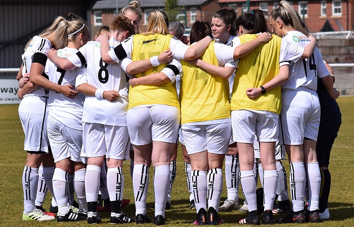
[{"label": "long blonde ponytail hair of the number 14 player at right", "polygon": [[279,6],[272,11],[270,16],[273,20],[277,20],[279,18],[283,21],[285,26],[291,27],[308,36],[308,32],[302,27],[294,8],[288,1],[282,0],[279,3]]}]

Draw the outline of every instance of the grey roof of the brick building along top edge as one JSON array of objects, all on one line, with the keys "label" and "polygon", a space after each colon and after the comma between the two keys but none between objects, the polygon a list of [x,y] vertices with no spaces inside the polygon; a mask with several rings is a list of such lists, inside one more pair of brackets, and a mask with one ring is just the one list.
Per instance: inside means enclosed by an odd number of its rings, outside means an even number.
[{"label": "grey roof of the brick building along top edge", "polygon": [[[179,0],[178,5],[180,6],[191,6],[191,5],[202,5],[208,0]],[[92,8],[93,10],[97,9],[115,9],[123,8],[129,5],[129,0],[102,0],[97,1],[97,3]],[[165,0],[140,0],[140,7],[164,7]]]}]

